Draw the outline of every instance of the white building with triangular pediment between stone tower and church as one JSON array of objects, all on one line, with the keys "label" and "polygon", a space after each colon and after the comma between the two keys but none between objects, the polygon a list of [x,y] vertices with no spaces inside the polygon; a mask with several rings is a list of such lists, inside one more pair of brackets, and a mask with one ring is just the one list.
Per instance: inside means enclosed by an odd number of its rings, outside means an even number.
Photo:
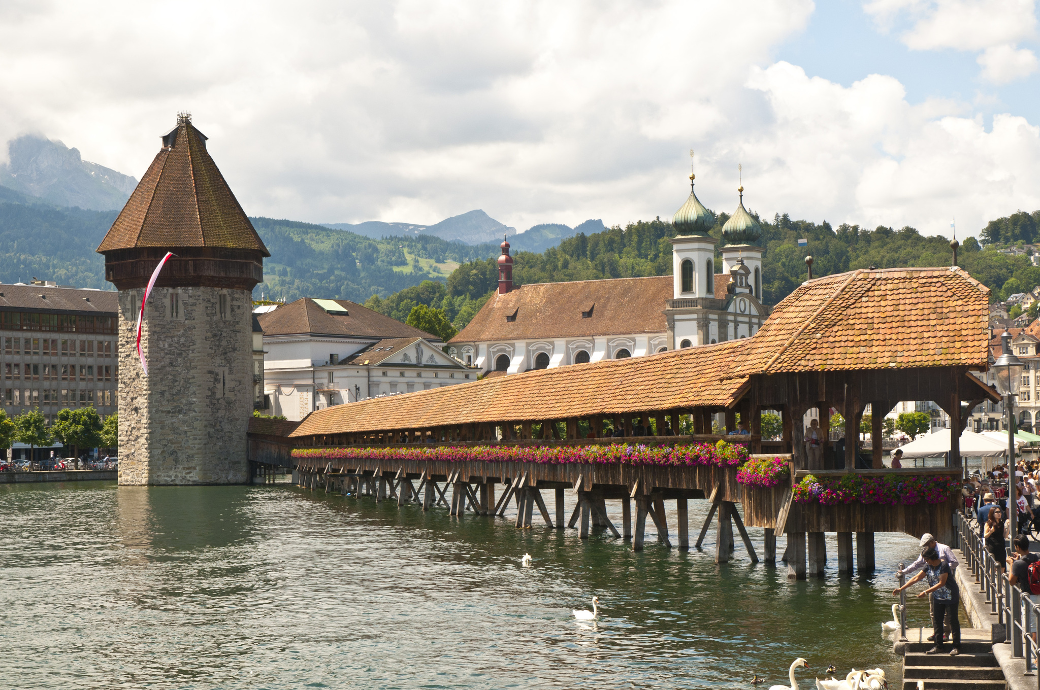
[{"label": "white building with triangular pediment between stone tower and church", "polygon": [[345,299],[306,297],[258,319],[269,412],[291,421],[331,405],[476,378],[441,351],[436,336]]}]

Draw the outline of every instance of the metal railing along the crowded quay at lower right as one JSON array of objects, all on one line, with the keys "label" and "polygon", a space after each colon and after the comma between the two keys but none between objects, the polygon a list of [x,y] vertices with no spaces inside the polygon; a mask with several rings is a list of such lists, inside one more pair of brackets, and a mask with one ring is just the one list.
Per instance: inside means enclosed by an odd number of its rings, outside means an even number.
[{"label": "metal railing along the crowded quay at lower right", "polygon": [[[980,593],[986,594],[990,613],[996,614],[997,621],[1004,626],[1005,642],[1011,644],[1012,656],[1024,657],[1025,672],[1030,673],[1037,667],[1040,654],[1035,632],[1040,630],[1040,606],[1023,593],[1021,587],[1011,584],[1004,570],[1005,563],[997,563],[986,550],[978,521],[968,519],[960,510],[955,515],[954,536],[966,560],[961,567],[971,569]],[[1037,688],[1040,689],[1040,673],[1037,674]]]}]

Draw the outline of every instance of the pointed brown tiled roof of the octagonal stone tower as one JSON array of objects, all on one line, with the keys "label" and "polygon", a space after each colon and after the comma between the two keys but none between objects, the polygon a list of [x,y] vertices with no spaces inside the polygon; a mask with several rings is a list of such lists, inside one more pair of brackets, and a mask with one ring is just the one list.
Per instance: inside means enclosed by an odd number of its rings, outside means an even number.
[{"label": "pointed brown tiled roof of the octagonal stone tower", "polygon": [[256,249],[269,257],[206,151],[206,136],[183,118],[162,139],[162,149],[98,251],[220,247]]}]

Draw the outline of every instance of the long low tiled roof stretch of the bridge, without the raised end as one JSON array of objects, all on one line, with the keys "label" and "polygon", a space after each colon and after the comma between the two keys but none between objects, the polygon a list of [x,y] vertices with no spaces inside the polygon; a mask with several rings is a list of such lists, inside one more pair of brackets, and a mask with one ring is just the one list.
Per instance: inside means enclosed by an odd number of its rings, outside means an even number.
[{"label": "long low tiled roof stretch of the bridge, without the raised end", "polygon": [[[744,381],[720,379],[746,343],[736,340],[696,348],[700,356],[691,356],[694,349],[687,348],[370,398],[311,413],[292,435],[727,405]],[[692,380],[704,384],[691,386]]]}]

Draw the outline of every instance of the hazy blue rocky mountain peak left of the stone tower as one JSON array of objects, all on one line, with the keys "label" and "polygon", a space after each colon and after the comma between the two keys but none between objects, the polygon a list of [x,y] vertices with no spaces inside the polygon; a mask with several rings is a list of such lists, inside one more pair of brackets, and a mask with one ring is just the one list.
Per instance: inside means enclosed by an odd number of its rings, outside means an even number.
[{"label": "hazy blue rocky mountain peak left of the stone tower", "polygon": [[0,185],[58,206],[121,209],[137,180],[85,161],[78,149],[36,134],[7,142],[10,162],[0,164]]}]

